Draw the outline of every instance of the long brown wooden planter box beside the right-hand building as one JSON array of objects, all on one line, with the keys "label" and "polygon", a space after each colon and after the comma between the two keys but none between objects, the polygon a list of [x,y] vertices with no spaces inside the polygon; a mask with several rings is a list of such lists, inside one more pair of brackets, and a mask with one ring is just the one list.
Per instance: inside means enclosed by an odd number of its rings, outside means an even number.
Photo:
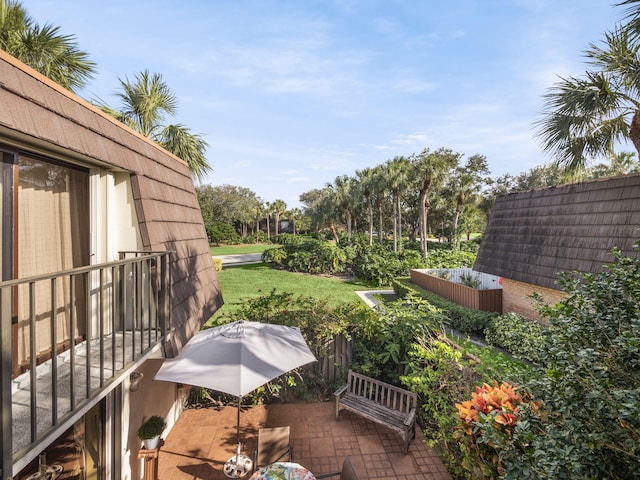
[{"label": "long brown wooden planter box beside the right-hand building", "polygon": [[464,307],[502,313],[502,289],[476,290],[427,273],[411,270],[411,283]]}]

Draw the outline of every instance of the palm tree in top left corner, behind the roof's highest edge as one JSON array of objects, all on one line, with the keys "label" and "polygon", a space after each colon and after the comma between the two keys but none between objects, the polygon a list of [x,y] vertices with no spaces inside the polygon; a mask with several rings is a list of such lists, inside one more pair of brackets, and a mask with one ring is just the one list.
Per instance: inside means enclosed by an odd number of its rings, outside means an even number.
[{"label": "palm tree in top left corner, behind the roof's highest edge", "polygon": [[96,64],[60,27],[40,26],[16,0],[0,0],[0,49],[64,88],[76,91],[93,77]]}]

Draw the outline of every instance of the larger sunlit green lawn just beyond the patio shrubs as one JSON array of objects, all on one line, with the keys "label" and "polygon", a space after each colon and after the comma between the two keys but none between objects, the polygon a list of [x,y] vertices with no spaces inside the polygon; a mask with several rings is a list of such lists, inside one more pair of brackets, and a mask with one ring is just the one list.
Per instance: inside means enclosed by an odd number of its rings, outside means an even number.
[{"label": "larger sunlit green lawn just beyond the patio shrubs", "polygon": [[243,299],[268,295],[274,288],[276,292],[323,299],[329,305],[361,302],[355,291],[369,289],[362,283],[334,277],[274,270],[264,263],[225,267],[218,272],[218,280],[225,304],[213,318],[237,308]]}]

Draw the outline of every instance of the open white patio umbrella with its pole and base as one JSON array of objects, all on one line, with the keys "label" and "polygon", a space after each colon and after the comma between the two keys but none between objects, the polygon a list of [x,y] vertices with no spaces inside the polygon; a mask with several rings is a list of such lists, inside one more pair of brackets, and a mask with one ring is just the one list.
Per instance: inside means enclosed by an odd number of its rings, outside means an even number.
[{"label": "open white patio umbrella with its pole and base", "polygon": [[247,473],[238,470],[241,462],[251,468],[250,459],[240,455],[242,397],[294,368],[315,361],[299,328],[240,320],[196,333],[177,357],[164,361],[154,379],[206,387],[238,397],[237,451],[225,464],[225,474],[235,478]]}]

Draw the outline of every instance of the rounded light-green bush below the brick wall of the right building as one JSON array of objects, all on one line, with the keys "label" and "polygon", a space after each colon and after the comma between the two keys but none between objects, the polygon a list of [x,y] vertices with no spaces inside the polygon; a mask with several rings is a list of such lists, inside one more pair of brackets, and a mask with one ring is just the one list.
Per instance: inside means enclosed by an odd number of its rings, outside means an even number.
[{"label": "rounded light-green bush below the brick wall of the right building", "polygon": [[492,318],[484,329],[484,338],[490,345],[537,364],[544,358],[547,334],[544,325],[515,313]]}]

